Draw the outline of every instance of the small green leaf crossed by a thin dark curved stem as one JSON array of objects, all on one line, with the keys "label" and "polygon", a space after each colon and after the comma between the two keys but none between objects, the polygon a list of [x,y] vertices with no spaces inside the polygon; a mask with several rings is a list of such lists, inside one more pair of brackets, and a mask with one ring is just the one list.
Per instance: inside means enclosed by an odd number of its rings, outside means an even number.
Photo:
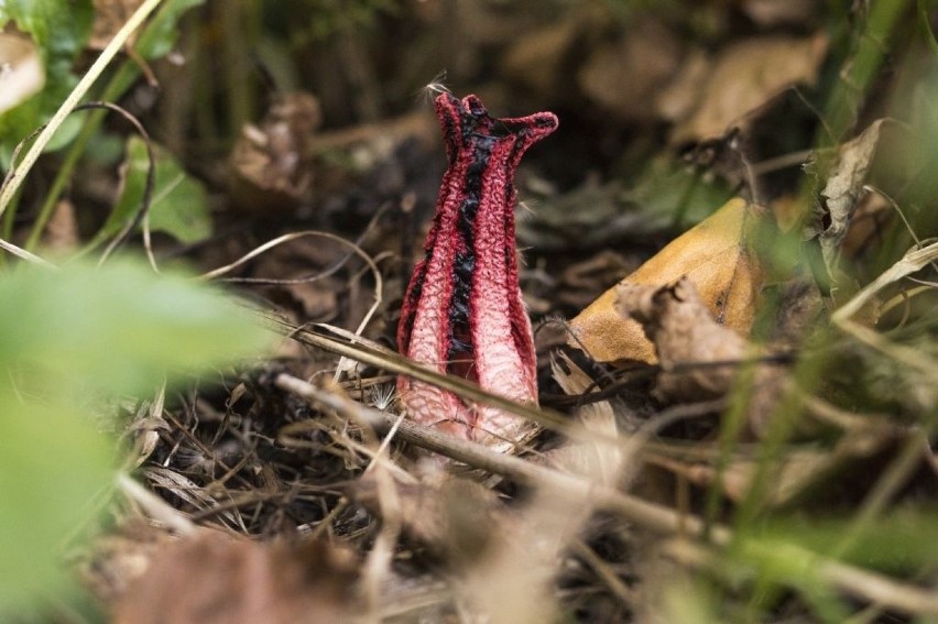
[{"label": "small green leaf crossed by a thin dark curved stem", "polygon": [[[185,243],[208,238],[211,234],[211,219],[205,189],[186,175],[168,152],[154,145],[153,154],[156,172],[150,206],[150,229],[165,232]],[[132,136],[127,143],[121,195],[92,244],[120,232],[140,210],[149,167],[146,144],[142,139]]]}]

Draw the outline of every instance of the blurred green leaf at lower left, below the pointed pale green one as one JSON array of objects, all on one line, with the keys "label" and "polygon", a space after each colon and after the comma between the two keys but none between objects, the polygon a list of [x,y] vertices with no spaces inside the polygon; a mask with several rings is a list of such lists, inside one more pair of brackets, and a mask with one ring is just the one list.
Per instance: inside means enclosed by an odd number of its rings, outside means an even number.
[{"label": "blurred green leaf at lower left, below the pointed pale green one", "polygon": [[113,480],[113,442],[62,402],[0,387],[0,620],[34,612],[70,585],[68,540]]}]

